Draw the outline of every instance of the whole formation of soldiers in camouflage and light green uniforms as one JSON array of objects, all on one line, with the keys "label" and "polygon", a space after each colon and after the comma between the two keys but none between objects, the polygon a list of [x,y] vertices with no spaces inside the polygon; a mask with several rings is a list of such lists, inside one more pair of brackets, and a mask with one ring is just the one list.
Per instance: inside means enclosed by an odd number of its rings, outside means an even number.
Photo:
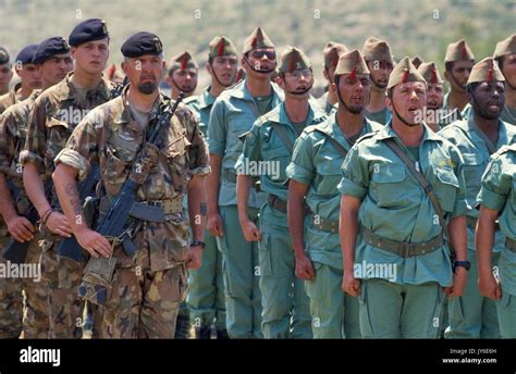
[{"label": "whole formation of soldiers in camouflage and light green uniforms", "polygon": [[[185,337],[189,323],[198,338],[516,337],[516,35],[478,63],[451,43],[446,96],[435,63],[395,63],[374,37],[325,46],[318,100],[305,53],[277,59],[260,27],[241,82],[235,46],[213,38],[199,96],[188,53],[168,67],[171,100],[159,37],[121,51],[124,87],[102,75],[98,18],[16,58],[21,85],[0,99],[2,246],[28,242],[42,283],[0,279],[2,337],[81,337],[85,300],[106,338]],[[180,91],[187,107],[149,144]],[[77,182],[95,164],[100,216],[127,178],[163,215],[127,223],[136,251],[85,216]],[[81,261],[57,251],[72,235]]]}]

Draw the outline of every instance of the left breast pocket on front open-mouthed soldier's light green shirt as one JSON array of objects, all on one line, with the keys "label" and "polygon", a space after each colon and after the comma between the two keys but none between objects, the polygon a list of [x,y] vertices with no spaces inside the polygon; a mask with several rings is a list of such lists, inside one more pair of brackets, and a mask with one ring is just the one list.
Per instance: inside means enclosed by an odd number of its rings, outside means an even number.
[{"label": "left breast pocket on front open-mouthed soldier's light green shirt", "polygon": [[380,208],[398,207],[406,203],[407,172],[402,165],[378,165],[372,170],[371,188],[376,191]]}]

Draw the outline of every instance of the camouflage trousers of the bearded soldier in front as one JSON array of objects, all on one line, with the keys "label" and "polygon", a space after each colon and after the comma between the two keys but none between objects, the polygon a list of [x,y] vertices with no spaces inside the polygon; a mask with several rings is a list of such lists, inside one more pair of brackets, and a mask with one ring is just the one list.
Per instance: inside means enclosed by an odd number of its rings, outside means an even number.
[{"label": "camouflage trousers of the bearded soldier in front", "polygon": [[103,309],[103,338],[173,338],[186,270],[116,269]]}]

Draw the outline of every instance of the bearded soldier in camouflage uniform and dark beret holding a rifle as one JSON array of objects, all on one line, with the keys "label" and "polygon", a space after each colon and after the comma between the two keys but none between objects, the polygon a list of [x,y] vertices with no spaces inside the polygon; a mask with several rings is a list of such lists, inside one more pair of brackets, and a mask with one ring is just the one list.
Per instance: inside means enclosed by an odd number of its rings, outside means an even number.
[{"label": "bearded soldier in camouflage uniform and dark beret holding a rifle", "polygon": [[[94,257],[112,255],[116,261],[103,311],[103,337],[172,338],[179,303],[185,295],[185,267],[200,266],[204,224],[198,224],[197,217],[206,203],[208,151],[195,116],[185,105],[179,107],[157,146],[145,142],[158,111],[171,104],[158,90],[164,68],[162,45],[153,34],[137,33],[121,50],[130,86],[120,98],[95,109],[82,121],[56,158],[54,182],[81,246]],[[139,149],[144,152],[143,173],[132,167]],[[113,249],[83,220],[75,179],[87,177],[93,162],[100,165],[106,190],[101,214],[107,213],[103,207],[109,207],[130,174],[133,180],[139,180],[137,200],[163,210],[163,222],[138,224],[133,236],[137,249],[134,254],[126,254],[118,245]],[[182,213],[185,192],[192,244]]]}]

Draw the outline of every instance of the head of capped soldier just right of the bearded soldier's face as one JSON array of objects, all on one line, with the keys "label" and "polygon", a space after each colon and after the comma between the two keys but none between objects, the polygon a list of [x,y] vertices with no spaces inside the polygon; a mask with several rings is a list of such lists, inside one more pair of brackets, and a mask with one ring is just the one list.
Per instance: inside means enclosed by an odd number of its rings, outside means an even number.
[{"label": "head of capped soldier just right of the bearded soldier's face", "polygon": [[197,72],[199,65],[188,52],[183,52],[170,60],[167,83],[170,86],[170,98],[177,99],[177,95],[183,92],[185,97],[194,95],[197,88]]}]

